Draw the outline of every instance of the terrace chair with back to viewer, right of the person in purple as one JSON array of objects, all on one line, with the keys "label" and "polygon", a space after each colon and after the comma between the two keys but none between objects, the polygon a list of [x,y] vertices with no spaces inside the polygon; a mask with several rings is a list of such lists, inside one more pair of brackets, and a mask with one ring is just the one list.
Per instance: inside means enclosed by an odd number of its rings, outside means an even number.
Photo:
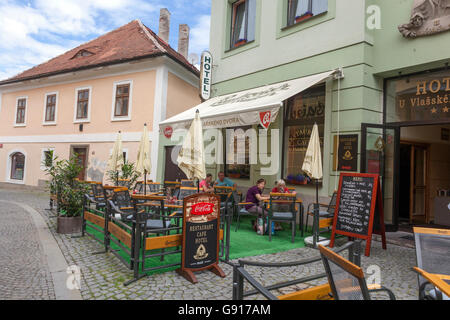
[{"label": "terrace chair with back to viewer, right of the person in purple", "polygon": [[297,196],[292,193],[270,193],[269,206],[267,208],[267,229],[269,230],[269,241],[272,241],[272,221],[291,223],[292,243],[295,242],[297,208],[295,206]]}]

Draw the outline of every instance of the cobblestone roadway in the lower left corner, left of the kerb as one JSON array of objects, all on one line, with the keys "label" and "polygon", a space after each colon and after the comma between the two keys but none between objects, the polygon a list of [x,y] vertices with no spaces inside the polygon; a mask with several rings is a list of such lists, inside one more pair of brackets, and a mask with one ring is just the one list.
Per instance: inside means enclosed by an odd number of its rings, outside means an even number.
[{"label": "cobblestone roadway in the lower left corner, left of the kerb", "polygon": [[55,299],[55,292],[31,216],[0,202],[0,300],[10,299]]}]

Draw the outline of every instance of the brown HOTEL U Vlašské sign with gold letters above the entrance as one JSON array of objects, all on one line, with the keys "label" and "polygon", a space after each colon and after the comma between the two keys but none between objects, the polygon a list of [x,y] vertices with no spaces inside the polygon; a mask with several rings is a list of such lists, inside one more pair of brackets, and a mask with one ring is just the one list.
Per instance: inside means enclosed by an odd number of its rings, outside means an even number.
[{"label": "brown HOTEL U Vla\u0161sk\u00e9 sign with gold letters above the entrance", "polygon": [[402,120],[450,118],[450,76],[417,80],[414,87],[397,93],[396,114]]}]

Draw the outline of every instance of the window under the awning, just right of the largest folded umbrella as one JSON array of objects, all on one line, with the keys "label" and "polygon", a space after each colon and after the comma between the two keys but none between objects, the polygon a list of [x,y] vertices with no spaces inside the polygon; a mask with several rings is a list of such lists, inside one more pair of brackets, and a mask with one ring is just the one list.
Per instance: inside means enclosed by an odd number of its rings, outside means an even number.
[{"label": "window under the awning, just right of the largest folded umbrella", "polygon": [[[225,138],[225,174],[232,179],[250,179],[251,126],[227,129]],[[253,141],[256,143],[256,141]]]}]

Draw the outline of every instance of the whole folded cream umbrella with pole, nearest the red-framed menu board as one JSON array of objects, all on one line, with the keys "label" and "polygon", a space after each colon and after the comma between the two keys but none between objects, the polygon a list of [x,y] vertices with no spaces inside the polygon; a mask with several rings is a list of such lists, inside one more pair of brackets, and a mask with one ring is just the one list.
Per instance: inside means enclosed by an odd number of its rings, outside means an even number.
[{"label": "whole folded cream umbrella with pole, nearest the red-framed menu board", "polygon": [[[322,154],[320,151],[319,127],[314,124],[309,139],[308,149],[306,150],[305,160],[303,161],[302,170],[311,178],[316,180],[316,203],[314,204],[314,236],[313,245],[319,240],[318,221],[319,221],[319,180],[323,177],[322,171]],[[305,239],[306,240],[306,239]]]}]

